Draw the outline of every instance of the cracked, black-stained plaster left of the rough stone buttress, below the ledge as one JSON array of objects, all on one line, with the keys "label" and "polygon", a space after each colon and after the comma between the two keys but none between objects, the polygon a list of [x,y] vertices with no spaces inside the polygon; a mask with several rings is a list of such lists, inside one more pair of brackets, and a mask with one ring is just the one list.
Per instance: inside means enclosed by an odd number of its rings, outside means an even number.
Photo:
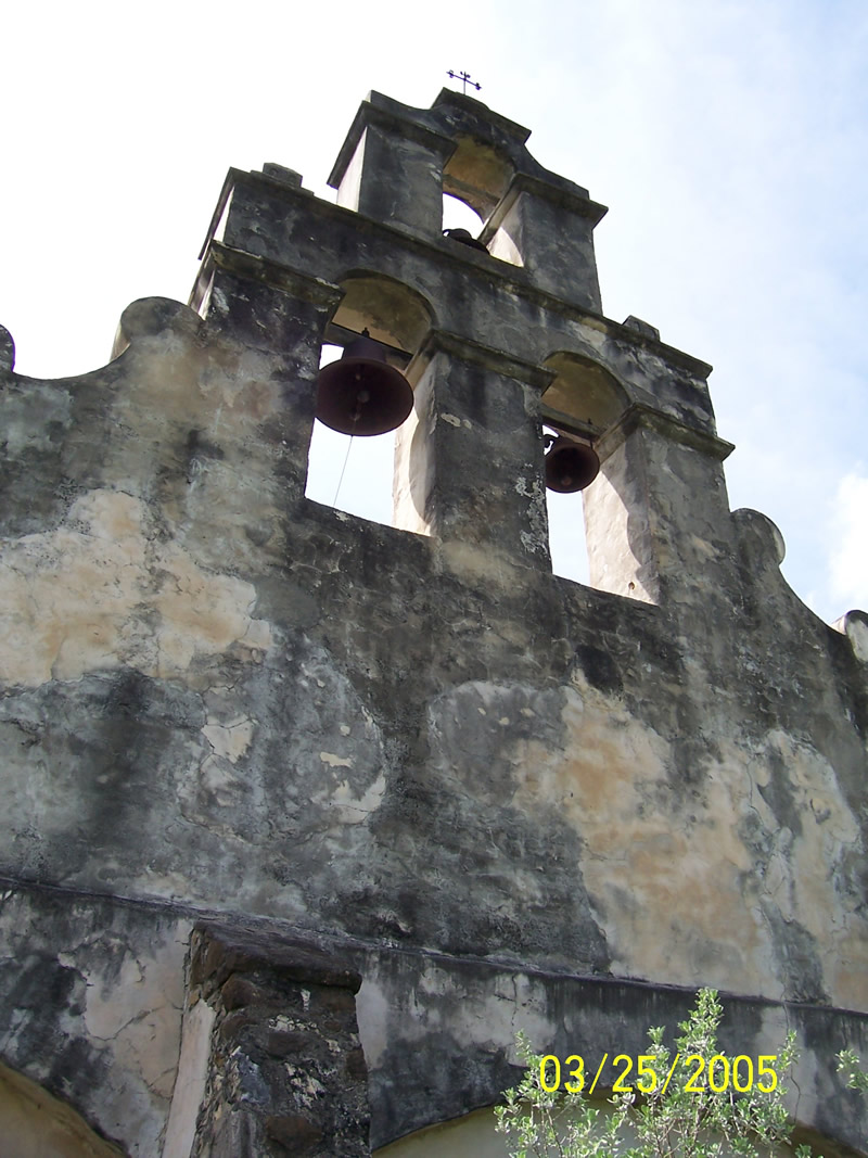
[{"label": "cracked, black-stained plaster left of the rough stone buttress, below the ledge", "polygon": [[0,943],[9,954],[0,957],[3,1061],[67,1100],[131,1158],[160,1153],[187,932],[183,919],[110,900],[38,889],[0,895]]}]

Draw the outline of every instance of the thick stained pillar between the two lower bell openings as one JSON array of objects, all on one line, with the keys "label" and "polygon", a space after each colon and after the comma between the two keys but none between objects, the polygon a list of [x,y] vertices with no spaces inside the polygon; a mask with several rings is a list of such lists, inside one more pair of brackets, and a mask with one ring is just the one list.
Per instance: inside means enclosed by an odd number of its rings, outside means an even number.
[{"label": "thick stained pillar between the two lower bell openings", "polygon": [[550,570],[538,400],[552,375],[434,331],[407,368],[414,406],[395,447],[395,522],[470,570]]}]

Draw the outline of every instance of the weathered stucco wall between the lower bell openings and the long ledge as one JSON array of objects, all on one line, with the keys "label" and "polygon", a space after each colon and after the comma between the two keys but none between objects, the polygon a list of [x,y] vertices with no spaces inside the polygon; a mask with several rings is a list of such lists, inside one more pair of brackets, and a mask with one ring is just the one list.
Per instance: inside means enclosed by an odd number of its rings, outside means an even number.
[{"label": "weathered stucco wall between the lower bell openings and the long ledge", "polygon": [[[250,410],[271,393],[280,422],[277,374],[215,389],[213,344],[168,330],[142,376],[131,349],[43,387],[112,406],[104,441],[69,419],[35,484],[52,515],[0,562],[5,870],[865,1007],[865,668],[756,574],[757,518],[723,528],[735,570],[681,580],[722,611],[705,635],[542,567],[471,571],[281,506]],[[5,394],[23,446],[30,391]]]}]

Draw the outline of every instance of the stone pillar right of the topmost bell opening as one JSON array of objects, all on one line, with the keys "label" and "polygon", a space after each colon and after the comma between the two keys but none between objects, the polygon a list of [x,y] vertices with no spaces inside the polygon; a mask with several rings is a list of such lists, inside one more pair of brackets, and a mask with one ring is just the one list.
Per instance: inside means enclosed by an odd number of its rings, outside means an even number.
[{"label": "stone pillar right of the topmost bell opening", "polygon": [[481,241],[494,257],[520,262],[536,285],[564,301],[602,313],[594,227],[605,206],[578,189],[515,175],[486,222]]}]

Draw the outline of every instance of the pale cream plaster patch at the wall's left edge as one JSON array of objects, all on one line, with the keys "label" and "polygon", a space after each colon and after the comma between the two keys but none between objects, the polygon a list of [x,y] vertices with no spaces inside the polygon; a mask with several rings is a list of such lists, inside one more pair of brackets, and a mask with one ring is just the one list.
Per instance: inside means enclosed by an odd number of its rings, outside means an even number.
[{"label": "pale cream plaster patch at the wall's left edge", "polygon": [[253,587],[200,567],[154,535],[144,504],[95,490],[56,530],[8,542],[0,560],[0,679],[38,687],[127,665],[171,679],[236,644],[252,661],[272,643]]}]

